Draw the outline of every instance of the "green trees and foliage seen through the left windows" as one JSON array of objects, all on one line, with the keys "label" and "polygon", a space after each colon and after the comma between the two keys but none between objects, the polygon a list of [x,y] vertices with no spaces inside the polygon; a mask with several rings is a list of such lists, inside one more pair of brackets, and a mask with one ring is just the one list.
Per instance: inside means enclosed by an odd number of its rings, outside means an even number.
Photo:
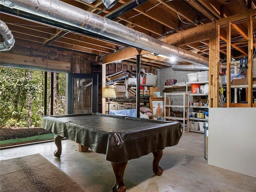
[{"label": "green trees and foliage seen through the left windows", "polygon": [[[31,80],[28,78],[31,73]],[[58,74],[59,101],[55,114],[65,114],[66,74]],[[17,68],[0,68],[0,126],[27,127],[31,109],[31,126],[42,125],[44,114],[44,72]],[[32,101],[28,106],[28,97]]]}]

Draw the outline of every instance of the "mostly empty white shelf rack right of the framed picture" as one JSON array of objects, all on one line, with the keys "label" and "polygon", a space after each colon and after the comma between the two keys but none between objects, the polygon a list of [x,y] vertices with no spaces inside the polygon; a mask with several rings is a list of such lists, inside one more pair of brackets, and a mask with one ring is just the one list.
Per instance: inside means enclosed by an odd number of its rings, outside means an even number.
[{"label": "mostly empty white shelf rack right of the framed picture", "polygon": [[[179,104],[172,104],[176,96],[182,97]],[[176,102],[178,103],[178,102]],[[180,104],[182,103],[182,104]],[[176,117],[172,108],[182,111],[182,117]],[[164,120],[179,120],[183,122],[183,132],[189,132],[189,94],[188,93],[164,93]]]}]

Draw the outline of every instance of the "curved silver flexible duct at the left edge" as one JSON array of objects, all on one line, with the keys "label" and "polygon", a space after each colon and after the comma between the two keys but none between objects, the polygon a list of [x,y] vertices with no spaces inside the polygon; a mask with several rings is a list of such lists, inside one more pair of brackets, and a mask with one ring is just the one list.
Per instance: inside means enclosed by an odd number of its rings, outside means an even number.
[{"label": "curved silver flexible duct at the left edge", "polygon": [[0,20],[0,33],[3,36],[4,42],[0,43],[0,51],[10,50],[15,43],[11,30]]}]

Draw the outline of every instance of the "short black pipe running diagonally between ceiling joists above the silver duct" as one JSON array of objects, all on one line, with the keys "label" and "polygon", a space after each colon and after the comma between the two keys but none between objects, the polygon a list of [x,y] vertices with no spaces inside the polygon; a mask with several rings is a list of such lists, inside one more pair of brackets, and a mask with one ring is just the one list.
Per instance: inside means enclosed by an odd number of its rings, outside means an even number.
[{"label": "short black pipe running diagonally between ceiling joists above the silver duct", "polygon": [[147,1],[148,0],[131,0],[130,2],[116,8],[114,11],[106,14],[104,17],[113,20]]}]

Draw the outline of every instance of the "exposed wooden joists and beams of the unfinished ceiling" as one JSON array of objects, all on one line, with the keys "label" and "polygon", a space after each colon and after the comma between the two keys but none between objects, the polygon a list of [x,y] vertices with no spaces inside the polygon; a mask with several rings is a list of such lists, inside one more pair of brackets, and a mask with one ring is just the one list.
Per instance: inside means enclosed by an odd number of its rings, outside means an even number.
[{"label": "exposed wooden joists and beams of the unfinished ceiling", "polygon": [[[130,3],[119,0],[112,8],[106,9],[100,0],[92,4],[82,0],[62,1],[103,17],[118,12],[116,9]],[[215,27],[213,23],[255,8],[255,0],[148,0],[113,20],[168,44],[209,58],[209,37],[214,33]],[[172,64],[166,56],[138,50],[122,42],[63,26],[58,22],[50,25],[47,21],[43,22],[42,18],[28,16],[20,10],[3,5],[0,7],[0,19],[8,25],[18,45],[34,44],[94,54],[103,63],[119,60],[136,63],[136,55],[141,54],[141,62],[147,66],[167,68]],[[256,29],[255,22],[253,28]],[[231,34],[231,57],[246,56],[247,21],[232,23]],[[221,28],[220,39],[220,56],[224,59],[226,28]],[[189,63],[179,60],[176,64]]]}]

